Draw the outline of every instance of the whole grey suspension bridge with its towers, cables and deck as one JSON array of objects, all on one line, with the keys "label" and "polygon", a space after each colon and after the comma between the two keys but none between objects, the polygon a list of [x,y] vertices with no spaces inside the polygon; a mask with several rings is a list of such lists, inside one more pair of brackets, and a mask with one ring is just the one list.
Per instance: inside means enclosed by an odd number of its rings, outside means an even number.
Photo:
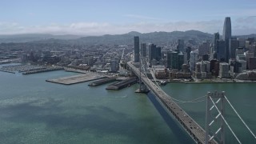
[{"label": "whole grey suspension bridge with its towers, cables and deck", "polygon": [[[142,60],[141,60],[142,61]],[[142,64],[141,64],[142,63]],[[142,73],[141,69],[143,67],[143,70],[145,74]],[[146,74],[146,68],[143,62],[140,62],[139,68],[134,66],[133,62],[127,62],[127,69],[130,70],[131,75],[136,75],[138,78],[140,78],[140,84],[143,83],[144,86],[146,86],[147,89],[149,89],[155,97],[157,97],[158,101],[162,103],[162,106],[166,108],[174,116],[174,118],[181,124],[181,126],[186,130],[186,132],[190,135],[191,138],[194,139],[197,143],[225,143],[224,139],[224,124],[230,129],[231,133],[234,135],[234,138],[238,141],[238,143],[242,143],[236,134],[234,134],[234,131],[230,128],[229,124],[226,122],[226,119],[224,118],[223,114],[223,106],[221,107],[221,110],[219,110],[217,104],[218,102],[222,102],[226,99],[226,101],[230,104],[231,108],[234,110],[235,114],[238,115],[238,118],[242,121],[242,123],[246,126],[247,130],[250,131],[250,134],[253,135],[253,137],[256,139],[254,133],[252,130],[250,130],[249,126],[246,125],[246,122],[242,120],[238,112],[234,109],[234,106],[231,105],[230,101],[226,98],[225,93],[209,93],[207,96],[203,96],[200,98],[196,98],[191,101],[181,101],[176,98],[170,97],[170,95],[166,94],[164,90],[161,89],[160,86],[158,86],[158,83],[154,77],[154,74],[152,74],[152,77],[154,78],[154,82],[152,82]],[[141,89],[141,86],[140,86]],[[203,99],[205,98],[205,99]],[[207,98],[207,105],[206,105],[206,130],[204,130],[201,126],[198,125],[197,122],[194,121],[193,118],[189,116],[189,114],[186,113],[186,111],[182,110],[180,106],[178,106],[177,103],[186,103],[186,102],[202,102],[205,101]],[[218,98],[217,101],[214,102],[214,98]],[[210,107],[210,104],[213,105]],[[210,119],[210,111],[213,109],[218,110],[218,114],[213,119]],[[217,131],[212,132],[210,130],[210,127],[216,122],[216,119],[221,119],[221,126],[218,128]],[[221,133],[221,138],[218,138],[218,133]],[[217,140],[217,141],[216,141]]]}]

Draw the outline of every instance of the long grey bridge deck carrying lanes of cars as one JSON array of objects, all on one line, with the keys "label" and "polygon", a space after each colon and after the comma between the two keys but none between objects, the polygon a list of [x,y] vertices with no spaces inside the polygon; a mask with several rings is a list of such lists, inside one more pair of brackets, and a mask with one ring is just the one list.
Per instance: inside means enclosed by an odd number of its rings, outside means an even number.
[{"label": "long grey bridge deck carrying lanes of cars", "polygon": [[[131,62],[127,62],[127,64],[130,66],[131,70],[133,70],[134,74],[139,76],[138,68],[136,68]],[[142,82],[144,82],[144,84],[146,84],[146,86],[154,93],[154,95],[162,102],[162,104],[166,106],[166,109],[174,115],[177,121],[181,123],[183,128],[187,131],[188,134],[190,134],[191,138],[193,138],[195,142],[206,143],[206,131],[203,130],[202,127],[199,126],[193,118],[190,118],[190,116],[186,114],[186,112],[182,110],[180,106],[173,102],[168,94],[166,94],[163,90],[158,89],[158,86],[156,86],[154,82],[148,80],[144,74],[142,74]],[[217,142],[211,141],[209,143]]]}]

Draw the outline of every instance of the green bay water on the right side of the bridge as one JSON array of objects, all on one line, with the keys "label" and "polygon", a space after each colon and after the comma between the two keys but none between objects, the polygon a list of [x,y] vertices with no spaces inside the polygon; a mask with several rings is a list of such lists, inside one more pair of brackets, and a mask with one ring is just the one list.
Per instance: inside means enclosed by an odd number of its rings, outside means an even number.
[{"label": "green bay water on the right side of the bridge", "polygon": [[[206,96],[207,92],[225,91],[226,97],[238,111],[238,114],[246,122],[247,126],[250,127],[250,130],[252,130],[254,134],[256,133],[256,83],[169,83],[167,86],[162,86],[162,89],[165,90],[167,94],[170,94],[171,97],[183,101],[190,101]],[[179,106],[205,129],[206,101],[180,103]],[[217,111],[215,110],[212,116],[215,117],[217,115],[216,113]],[[250,134],[246,126],[242,124],[227,102],[225,102],[225,118],[234,131],[234,134],[237,135],[242,143],[256,143],[253,135]],[[225,126],[225,129],[226,143],[238,143],[227,126]]]}]

